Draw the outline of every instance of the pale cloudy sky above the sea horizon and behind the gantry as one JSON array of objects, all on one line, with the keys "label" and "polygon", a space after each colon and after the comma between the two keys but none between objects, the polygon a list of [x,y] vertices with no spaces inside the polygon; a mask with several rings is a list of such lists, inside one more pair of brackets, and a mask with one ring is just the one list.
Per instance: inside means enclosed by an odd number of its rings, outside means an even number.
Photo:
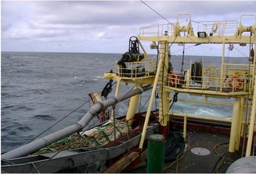
[{"label": "pale cloudy sky above the sea horizon and behind the gantry", "polygon": [[[193,21],[240,20],[256,14],[256,1],[145,1],[167,20],[190,13]],[[186,20],[186,19],[183,19]],[[184,22],[184,21],[183,21]],[[185,21],[186,22],[186,21]],[[245,17],[251,25],[253,17]],[[140,1],[2,1],[2,51],[123,53],[142,26],[167,23]],[[192,23],[197,28],[197,23]],[[150,42],[143,42],[148,53]],[[187,47],[191,45],[187,44]],[[249,47],[235,46],[244,54]],[[173,45],[172,50],[183,47]],[[188,55],[220,56],[221,45],[200,45]],[[215,51],[213,51],[215,50]],[[182,51],[176,52],[181,54]],[[232,51],[230,56],[242,56]]]}]

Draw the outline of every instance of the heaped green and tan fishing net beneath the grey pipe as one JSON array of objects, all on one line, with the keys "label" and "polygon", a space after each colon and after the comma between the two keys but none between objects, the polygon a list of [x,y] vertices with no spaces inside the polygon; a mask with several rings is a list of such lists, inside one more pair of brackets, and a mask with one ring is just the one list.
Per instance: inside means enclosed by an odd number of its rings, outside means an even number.
[{"label": "heaped green and tan fishing net beneath the grey pipe", "polygon": [[[116,139],[130,132],[131,127],[126,121],[116,120]],[[59,150],[72,150],[97,145],[105,145],[114,141],[114,126],[113,121],[108,121],[105,124],[94,127],[91,130],[85,131],[81,135],[74,133],[59,141],[51,143],[45,148],[40,149],[34,154],[57,152]],[[70,143],[72,142],[72,143]],[[69,144],[70,143],[70,144]],[[67,145],[69,146],[67,147]]]}]

